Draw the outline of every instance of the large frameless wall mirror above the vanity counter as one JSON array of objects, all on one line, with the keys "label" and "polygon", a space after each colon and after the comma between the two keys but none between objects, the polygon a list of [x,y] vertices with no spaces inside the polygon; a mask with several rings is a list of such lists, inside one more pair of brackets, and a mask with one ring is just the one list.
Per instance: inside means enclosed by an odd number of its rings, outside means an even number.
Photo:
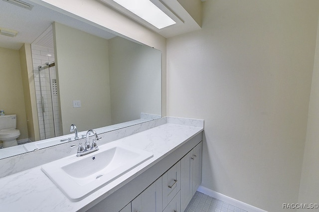
[{"label": "large frameless wall mirror above the vanity counter", "polygon": [[25,2],[0,1],[0,109],[16,114],[18,143],[160,117],[159,50]]}]

